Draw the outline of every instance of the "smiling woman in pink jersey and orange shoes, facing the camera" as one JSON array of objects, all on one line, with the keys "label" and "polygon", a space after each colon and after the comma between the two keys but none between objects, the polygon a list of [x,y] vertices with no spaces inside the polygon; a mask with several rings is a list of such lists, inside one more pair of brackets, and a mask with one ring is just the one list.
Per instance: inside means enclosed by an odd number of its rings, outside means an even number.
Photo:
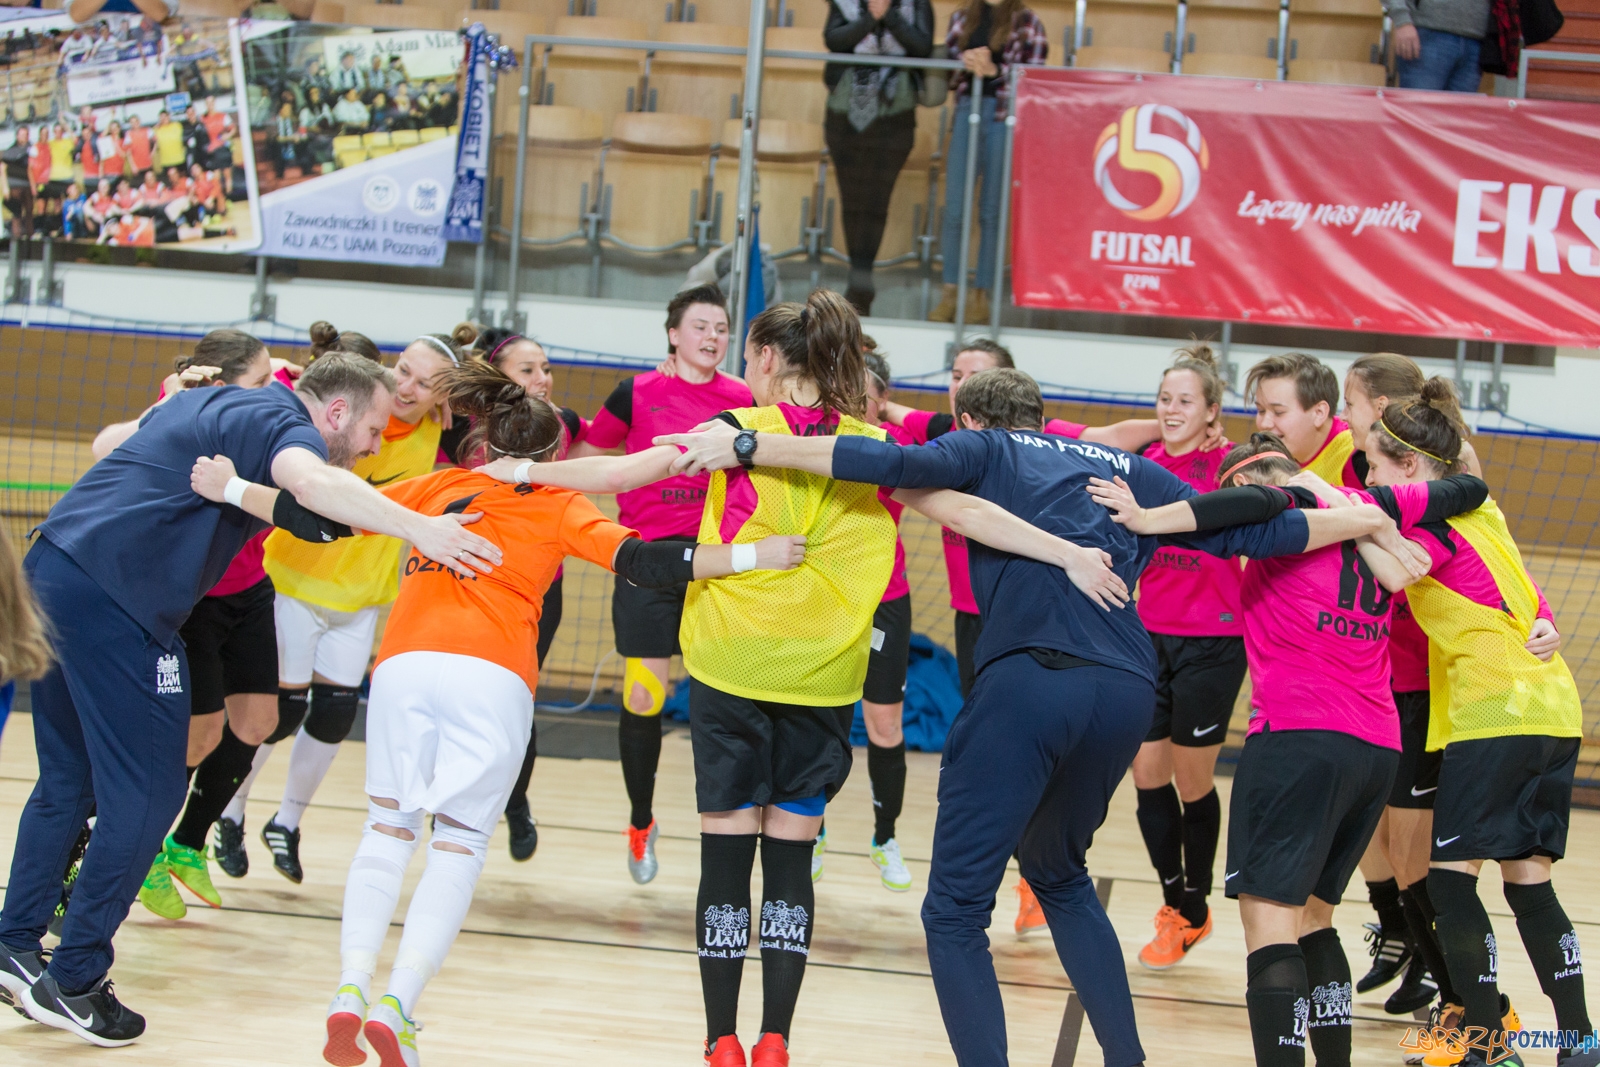
[{"label": "smiling woman in pink jersey and orange shoes, facing the camera", "polygon": [[[1221,451],[1203,451],[1222,419],[1211,347],[1179,349],[1162,376],[1162,440],[1142,451],[1198,493],[1218,488]],[[1227,442],[1221,445],[1226,448]],[[1222,829],[1213,777],[1245,680],[1245,621],[1235,560],[1163,545],[1139,577],[1139,621],[1155,646],[1155,720],[1133,760],[1139,832],[1162,880],[1155,937],[1139,950],[1152,969],[1178,965],[1211,936],[1211,867]]]}]

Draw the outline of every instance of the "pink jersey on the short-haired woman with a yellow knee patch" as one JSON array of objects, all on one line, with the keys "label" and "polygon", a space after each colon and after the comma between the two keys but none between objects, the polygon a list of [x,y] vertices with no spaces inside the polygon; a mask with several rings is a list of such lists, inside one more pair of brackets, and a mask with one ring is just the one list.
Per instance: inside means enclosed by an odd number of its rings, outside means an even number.
[{"label": "pink jersey on the short-haired woman with a yellow knee patch", "polygon": [[[656,371],[624,379],[589,424],[587,440],[597,448],[622,445],[629,454],[653,446],[658,434],[682,434],[722,411],[754,405],[750,389],[738,378],[717,374],[709,382],[666,378]],[[619,493],[618,522],[646,541],[694,537],[706,507],[709,474],[674,475],[642,490]]]}]

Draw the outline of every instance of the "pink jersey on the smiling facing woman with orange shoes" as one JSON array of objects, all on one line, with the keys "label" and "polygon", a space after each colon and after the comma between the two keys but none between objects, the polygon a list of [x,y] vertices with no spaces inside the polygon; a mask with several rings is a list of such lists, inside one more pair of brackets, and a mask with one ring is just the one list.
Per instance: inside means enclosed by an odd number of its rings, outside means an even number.
[{"label": "pink jersey on the smiling facing woman with orange shoes", "polygon": [[[1170,456],[1162,442],[1155,442],[1144,450],[1144,458],[1171,470],[1195,493],[1211,493],[1219,486],[1218,475],[1229,448],[1222,442],[1211,451]],[[1152,633],[1238,637],[1245,632],[1238,611],[1243,577],[1238,560],[1162,545],[1139,576],[1139,621]]]}]

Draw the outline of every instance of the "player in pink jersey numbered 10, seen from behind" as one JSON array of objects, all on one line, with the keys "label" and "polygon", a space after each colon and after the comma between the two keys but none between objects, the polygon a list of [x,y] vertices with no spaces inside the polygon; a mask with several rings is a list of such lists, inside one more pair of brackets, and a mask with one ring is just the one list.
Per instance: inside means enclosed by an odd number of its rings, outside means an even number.
[{"label": "player in pink jersey numbered 10, seen from behind", "polygon": [[[1274,506],[1318,507],[1309,490],[1269,488],[1298,474],[1282,438],[1254,434],[1224,459],[1221,482],[1250,486],[1262,501],[1278,498]],[[1222,502],[1218,493],[1144,510],[1107,483],[1090,491],[1146,534],[1206,528],[1203,512]],[[1486,494],[1466,477],[1411,486],[1398,494],[1402,526],[1470,510]],[[1421,569],[1414,557],[1395,558],[1363,537],[1245,568],[1251,718],[1234,777],[1224,891],[1240,902],[1250,952],[1245,1000],[1261,1067],[1299,1067],[1307,1038],[1318,1064],[1350,1059],[1350,968],[1333,909],[1398,765],[1386,584]]]}]

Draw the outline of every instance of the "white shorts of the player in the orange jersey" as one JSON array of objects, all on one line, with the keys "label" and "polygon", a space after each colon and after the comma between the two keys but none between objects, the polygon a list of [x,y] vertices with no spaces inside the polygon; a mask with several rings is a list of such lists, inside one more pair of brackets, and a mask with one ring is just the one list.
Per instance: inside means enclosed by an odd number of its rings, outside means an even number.
[{"label": "white shorts of the player in the orange jersey", "polygon": [[366,793],[494,829],[533,729],[533,693],[477,656],[402,653],[366,697]]}]

